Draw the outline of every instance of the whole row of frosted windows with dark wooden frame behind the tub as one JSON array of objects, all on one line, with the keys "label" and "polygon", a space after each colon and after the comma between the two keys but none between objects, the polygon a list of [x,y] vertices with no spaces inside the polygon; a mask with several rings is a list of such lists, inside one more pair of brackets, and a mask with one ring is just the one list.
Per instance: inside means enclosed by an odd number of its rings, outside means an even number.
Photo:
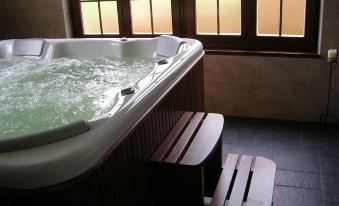
[{"label": "whole row of frosted windows with dark wooden frame behind the tub", "polygon": [[319,0],[72,0],[77,37],[199,39],[208,50],[316,53]]}]

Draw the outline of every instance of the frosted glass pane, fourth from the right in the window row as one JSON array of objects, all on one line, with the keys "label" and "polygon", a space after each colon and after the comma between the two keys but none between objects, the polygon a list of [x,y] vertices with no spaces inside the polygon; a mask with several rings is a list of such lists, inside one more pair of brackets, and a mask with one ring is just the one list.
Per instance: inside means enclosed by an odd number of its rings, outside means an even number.
[{"label": "frosted glass pane, fourth from the right in the window row", "polygon": [[241,0],[220,0],[219,21],[221,34],[241,34]]}]

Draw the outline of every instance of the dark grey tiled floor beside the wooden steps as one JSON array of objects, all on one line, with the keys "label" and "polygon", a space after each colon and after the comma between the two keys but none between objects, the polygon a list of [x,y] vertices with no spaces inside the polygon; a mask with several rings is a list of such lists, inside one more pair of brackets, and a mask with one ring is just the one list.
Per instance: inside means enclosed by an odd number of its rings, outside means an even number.
[{"label": "dark grey tiled floor beside the wooden steps", "polygon": [[274,206],[339,206],[339,128],[225,117],[228,153],[274,160]]}]

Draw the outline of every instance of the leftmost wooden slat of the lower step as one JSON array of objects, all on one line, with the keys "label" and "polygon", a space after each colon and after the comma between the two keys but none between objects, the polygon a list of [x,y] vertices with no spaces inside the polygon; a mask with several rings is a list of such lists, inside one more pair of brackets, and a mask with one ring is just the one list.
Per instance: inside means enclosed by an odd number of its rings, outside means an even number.
[{"label": "leftmost wooden slat of the lower step", "polygon": [[252,165],[252,156],[243,155],[240,160],[237,177],[235,178],[233,190],[228,206],[241,206],[246,190],[246,183]]}]

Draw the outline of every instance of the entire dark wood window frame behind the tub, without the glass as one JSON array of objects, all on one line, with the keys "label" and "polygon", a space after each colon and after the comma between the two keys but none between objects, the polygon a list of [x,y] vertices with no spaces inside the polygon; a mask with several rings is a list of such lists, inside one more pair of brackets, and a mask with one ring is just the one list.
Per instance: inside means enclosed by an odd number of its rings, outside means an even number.
[{"label": "entire dark wood window frame behind the tub, without the glass", "polygon": [[[112,0],[93,0],[112,1]],[[153,34],[133,34],[130,3],[128,0],[116,0],[119,17],[119,35],[85,35],[82,29],[80,0],[71,0],[75,37],[154,37]],[[269,37],[256,35],[257,0],[241,0],[241,35],[200,35],[196,33],[195,0],[172,0],[173,35],[200,40],[205,49],[214,53],[229,51],[263,53],[305,53],[316,54],[318,49],[318,30],[320,1],[307,0],[305,18],[305,36]],[[87,2],[90,2],[87,0]]]}]

